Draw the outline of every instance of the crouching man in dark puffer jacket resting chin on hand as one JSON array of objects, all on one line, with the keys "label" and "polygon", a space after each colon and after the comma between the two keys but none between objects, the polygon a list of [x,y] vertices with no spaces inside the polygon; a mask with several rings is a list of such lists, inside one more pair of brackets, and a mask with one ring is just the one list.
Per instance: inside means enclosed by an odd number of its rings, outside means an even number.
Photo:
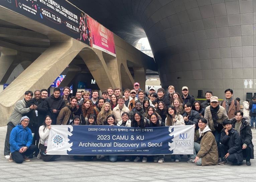
[{"label": "crouching man in dark puffer jacket resting chin on hand", "polygon": [[232,128],[230,120],[224,120],[223,126],[221,144],[219,146],[221,152],[221,162],[219,165],[228,164],[227,160],[232,162],[232,164],[241,165],[243,162],[243,152],[239,133]]}]

